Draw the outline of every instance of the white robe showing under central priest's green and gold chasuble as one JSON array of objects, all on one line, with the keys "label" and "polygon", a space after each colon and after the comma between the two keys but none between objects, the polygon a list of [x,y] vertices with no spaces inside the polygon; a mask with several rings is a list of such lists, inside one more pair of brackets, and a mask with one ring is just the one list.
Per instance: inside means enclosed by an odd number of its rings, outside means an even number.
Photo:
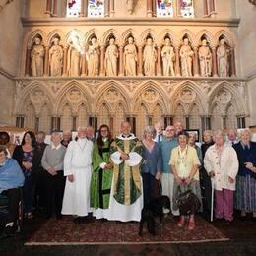
[{"label": "white robe showing under central priest's green and gold chasuble", "polygon": [[[132,140],[135,139],[134,135],[130,136],[129,138],[122,138],[121,136],[118,137],[122,140]],[[114,152],[110,157],[114,164],[119,165],[123,160],[120,160],[120,152]],[[142,157],[136,153],[131,152],[129,153],[129,160],[125,161],[125,164],[129,166],[138,165],[142,160]],[[141,221],[141,211],[143,209],[143,187],[141,188],[142,194],[141,196],[131,205],[123,205],[118,203],[115,198],[113,197],[113,189],[114,189],[114,177],[112,179],[112,186],[111,186],[111,193],[109,199],[109,209],[107,213],[107,220],[110,221],[120,221],[120,222],[130,222],[130,221]],[[142,185],[142,179],[141,179]]]}]

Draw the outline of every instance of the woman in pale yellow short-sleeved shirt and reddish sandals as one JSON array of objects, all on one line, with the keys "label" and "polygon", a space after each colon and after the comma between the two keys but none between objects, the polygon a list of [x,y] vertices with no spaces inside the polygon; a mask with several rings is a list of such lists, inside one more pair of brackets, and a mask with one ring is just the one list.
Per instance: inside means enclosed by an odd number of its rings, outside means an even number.
[{"label": "woman in pale yellow short-sleeved shirt and reddish sandals", "polygon": [[[192,192],[201,200],[201,191],[199,185],[198,167],[200,161],[197,156],[196,149],[188,145],[188,134],[182,131],[178,134],[179,146],[174,148],[171,153],[169,165],[174,175],[173,188],[173,209],[178,209],[177,197],[180,192],[191,189]],[[178,226],[185,224],[185,216],[181,215]],[[195,228],[195,213],[191,213],[189,217],[188,229]]]}]

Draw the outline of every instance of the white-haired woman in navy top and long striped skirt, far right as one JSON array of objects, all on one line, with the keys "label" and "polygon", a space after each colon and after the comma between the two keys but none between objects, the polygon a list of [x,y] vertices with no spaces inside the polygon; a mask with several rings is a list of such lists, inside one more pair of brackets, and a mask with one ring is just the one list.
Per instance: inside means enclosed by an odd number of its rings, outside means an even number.
[{"label": "white-haired woman in navy top and long striped skirt, far right", "polygon": [[250,141],[249,129],[241,131],[240,137],[241,141],[233,146],[239,160],[234,208],[241,211],[242,218],[252,212],[256,220],[256,143]]}]

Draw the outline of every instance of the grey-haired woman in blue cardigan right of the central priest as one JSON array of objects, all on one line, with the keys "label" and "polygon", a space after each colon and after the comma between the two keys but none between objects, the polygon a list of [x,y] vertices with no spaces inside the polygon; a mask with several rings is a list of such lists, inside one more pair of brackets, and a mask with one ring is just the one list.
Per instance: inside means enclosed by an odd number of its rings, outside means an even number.
[{"label": "grey-haired woman in blue cardigan right of the central priest", "polygon": [[160,195],[161,151],[160,144],[154,141],[156,129],[147,126],[142,140],[142,181],[144,205]]}]

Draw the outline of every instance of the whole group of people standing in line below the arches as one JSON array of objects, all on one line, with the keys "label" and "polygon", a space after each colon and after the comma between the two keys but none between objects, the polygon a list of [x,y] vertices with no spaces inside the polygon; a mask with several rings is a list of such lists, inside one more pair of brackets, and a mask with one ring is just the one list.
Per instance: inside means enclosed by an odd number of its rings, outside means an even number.
[{"label": "whole group of people standing in line below the arches", "polygon": [[[42,207],[47,219],[55,210],[56,219],[71,215],[75,222],[90,213],[96,219],[139,222],[143,206],[160,195],[170,198],[170,211],[179,216],[177,199],[188,189],[202,203],[199,211],[210,212],[213,186],[216,219],[231,224],[235,208],[241,218],[252,212],[256,220],[256,143],[249,129],[239,140],[235,129],[227,136],[207,130],[201,148],[181,122],[165,130],[160,123],[147,126],[141,140],[127,121],[120,131],[113,139],[109,127],[101,125],[95,138],[93,127],[79,127],[74,140],[68,132],[63,140],[53,132],[50,145],[44,143],[45,133],[35,137],[28,131],[15,149],[1,132],[0,194],[11,198],[6,229],[16,228],[21,190],[28,219],[34,207]],[[196,226],[195,214],[190,212],[189,230]],[[180,215],[178,226],[185,220]]]}]

